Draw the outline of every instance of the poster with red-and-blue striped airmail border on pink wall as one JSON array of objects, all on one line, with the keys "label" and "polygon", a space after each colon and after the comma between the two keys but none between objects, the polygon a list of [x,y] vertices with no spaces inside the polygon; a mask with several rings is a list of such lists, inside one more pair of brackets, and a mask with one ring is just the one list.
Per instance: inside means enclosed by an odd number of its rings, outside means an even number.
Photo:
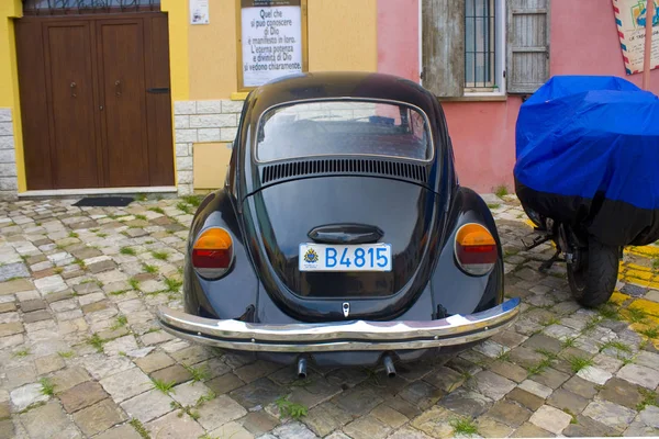
[{"label": "poster with red-and-blue striped airmail border on pink wall", "polygon": [[[627,75],[643,71],[645,50],[647,0],[613,0],[615,22],[621,38],[623,60]],[[659,4],[655,0],[655,16],[652,18],[652,49],[650,69],[659,67]]]}]

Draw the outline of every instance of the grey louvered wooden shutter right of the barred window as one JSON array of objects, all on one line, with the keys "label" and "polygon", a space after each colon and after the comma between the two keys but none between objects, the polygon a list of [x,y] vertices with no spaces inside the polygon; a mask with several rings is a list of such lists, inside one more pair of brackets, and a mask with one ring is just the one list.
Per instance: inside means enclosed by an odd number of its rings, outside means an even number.
[{"label": "grey louvered wooden shutter right of the barred window", "polygon": [[510,0],[507,91],[533,93],[549,79],[549,0]]}]

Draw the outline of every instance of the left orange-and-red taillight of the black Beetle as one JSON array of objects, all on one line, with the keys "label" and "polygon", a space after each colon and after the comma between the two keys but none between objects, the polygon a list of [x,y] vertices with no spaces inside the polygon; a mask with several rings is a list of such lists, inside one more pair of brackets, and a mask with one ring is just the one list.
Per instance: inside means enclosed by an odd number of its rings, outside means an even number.
[{"label": "left orange-and-red taillight of the black Beetle", "polygon": [[192,246],[192,266],[203,278],[220,278],[232,261],[233,239],[224,228],[212,227],[202,232]]}]

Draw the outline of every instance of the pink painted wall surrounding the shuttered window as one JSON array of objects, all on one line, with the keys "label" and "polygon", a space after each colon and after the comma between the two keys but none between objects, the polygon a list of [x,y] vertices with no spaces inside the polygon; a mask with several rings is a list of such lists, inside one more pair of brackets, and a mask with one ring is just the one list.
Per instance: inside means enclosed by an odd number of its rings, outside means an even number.
[{"label": "pink painted wall surrounding the shuttered window", "polygon": [[[588,18],[588,20],[584,20]],[[551,75],[625,75],[610,0],[551,2]],[[378,71],[418,80],[418,0],[378,0]],[[659,93],[659,70],[651,75]],[[443,102],[460,183],[479,192],[513,189],[515,123],[521,98]]]}]

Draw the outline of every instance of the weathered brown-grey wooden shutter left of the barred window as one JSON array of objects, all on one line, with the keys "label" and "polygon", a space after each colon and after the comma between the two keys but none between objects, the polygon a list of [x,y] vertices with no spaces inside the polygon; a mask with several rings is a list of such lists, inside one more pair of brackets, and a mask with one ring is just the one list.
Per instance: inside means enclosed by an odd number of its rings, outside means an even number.
[{"label": "weathered brown-grey wooden shutter left of the barred window", "polygon": [[423,86],[440,98],[465,91],[465,0],[423,0]]}]

